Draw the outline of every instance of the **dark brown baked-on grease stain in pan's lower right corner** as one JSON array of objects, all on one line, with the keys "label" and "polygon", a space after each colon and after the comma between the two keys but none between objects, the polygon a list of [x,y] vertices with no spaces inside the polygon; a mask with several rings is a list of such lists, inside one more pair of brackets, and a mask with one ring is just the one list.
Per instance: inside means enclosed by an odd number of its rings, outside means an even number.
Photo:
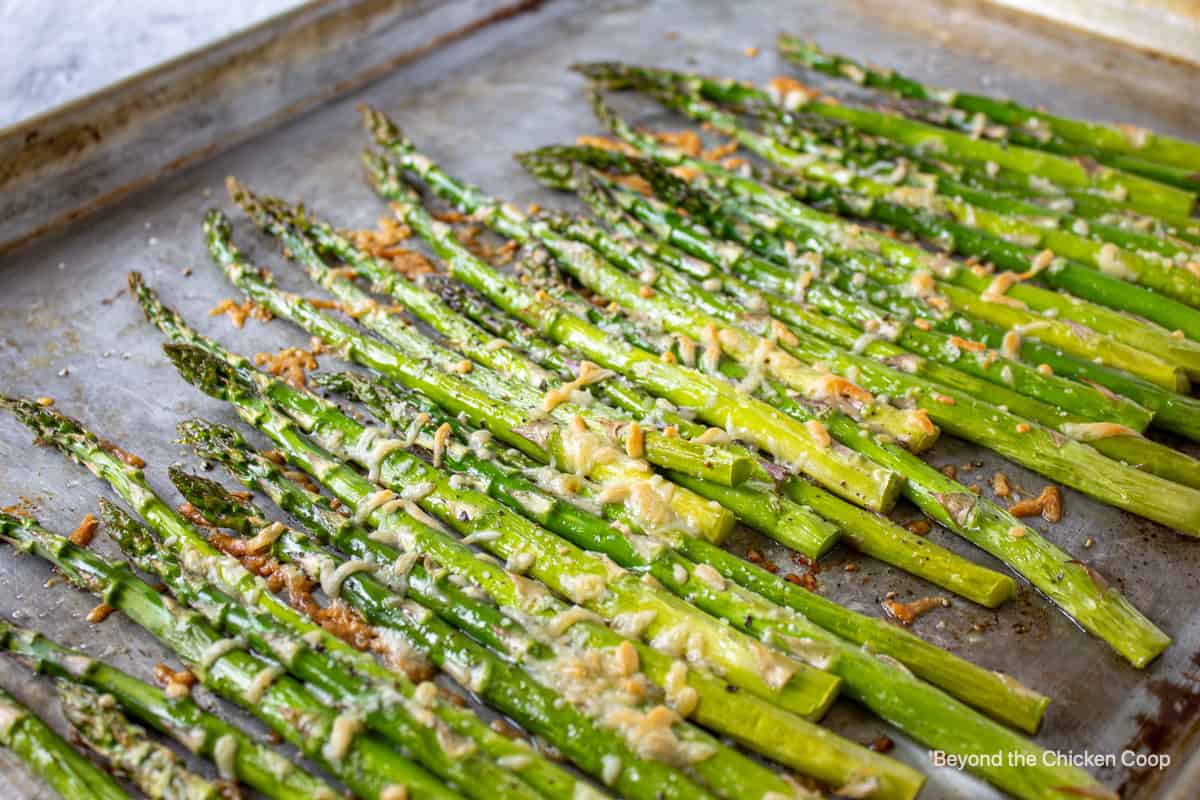
[{"label": "dark brown baked-on grease stain in pan's lower right corner", "polygon": [[[1172,764],[1190,751],[1192,740],[1200,733],[1200,652],[1192,656],[1192,664],[1195,669],[1183,673],[1182,681],[1159,679],[1146,684],[1158,709],[1138,715],[1138,733],[1126,750],[1170,753]],[[1153,766],[1130,768],[1118,792],[1122,798],[1148,798],[1164,774]]]}]

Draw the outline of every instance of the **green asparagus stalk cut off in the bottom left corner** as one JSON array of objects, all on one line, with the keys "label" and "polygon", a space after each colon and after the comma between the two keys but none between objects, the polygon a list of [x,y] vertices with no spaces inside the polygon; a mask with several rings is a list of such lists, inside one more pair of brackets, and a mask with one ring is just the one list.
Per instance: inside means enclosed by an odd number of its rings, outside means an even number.
[{"label": "green asparagus stalk cut off in the bottom left corner", "polygon": [[31,772],[66,800],[130,798],[107,772],[80,756],[4,688],[0,688],[0,746],[11,750]]}]

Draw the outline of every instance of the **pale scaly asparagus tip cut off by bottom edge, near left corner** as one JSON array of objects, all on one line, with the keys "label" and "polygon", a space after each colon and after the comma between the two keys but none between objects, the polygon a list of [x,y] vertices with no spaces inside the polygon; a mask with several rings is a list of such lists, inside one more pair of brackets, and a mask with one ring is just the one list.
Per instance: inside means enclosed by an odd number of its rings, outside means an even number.
[{"label": "pale scaly asparagus tip cut off by bottom edge, near left corner", "polygon": [[112,694],[66,680],[55,685],[67,721],[86,745],[154,800],[220,800],[221,790],[192,772],[170,748],[130,722]]}]

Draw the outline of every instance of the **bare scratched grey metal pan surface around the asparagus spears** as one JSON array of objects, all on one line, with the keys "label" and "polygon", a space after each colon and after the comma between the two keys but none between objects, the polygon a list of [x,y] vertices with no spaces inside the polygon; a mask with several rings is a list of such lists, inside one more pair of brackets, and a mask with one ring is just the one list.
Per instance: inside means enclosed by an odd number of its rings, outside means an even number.
[{"label": "bare scratched grey metal pan surface around the asparagus spears", "polygon": [[[38,203],[44,204],[44,212],[54,218],[78,218],[0,257],[4,391],[54,397],[59,409],[142,455],[151,483],[178,500],[166,481],[166,468],[176,462],[194,464],[194,459],[174,443],[175,425],[194,415],[229,423],[234,417],[222,404],[186,386],[164,361],[158,336],[124,291],[125,273],[142,270],[164,299],[203,331],[244,353],[304,345],[306,337],[282,321],[251,320],[236,331],[227,318],[208,315],[217,301],[235,294],[206,260],[200,217],[209,206],[229,205],[222,184],[226,175],[234,174],[259,191],[304,199],[340,225],[372,227],[384,209],[364,184],[358,164],[365,144],[354,112],[360,102],[394,113],[416,142],[452,172],[516,203],[544,206],[565,200],[536,187],[510,155],[599,132],[582,100],[578,78],[566,71],[569,64],[623,59],[766,79],[786,71],[772,46],[780,28],[941,84],[1002,91],[1068,114],[1117,119],[1175,134],[1196,136],[1200,131],[1200,96],[1194,91],[1200,76],[1190,68],[983,6],[935,0],[902,7],[817,0],[563,0],[475,25],[469,35],[446,42],[439,37],[470,23],[472,4],[445,4],[457,14],[457,28],[445,30],[431,22],[438,18],[438,4],[413,5],[425,28],[394,24],[390,30],[396,36],[396,31],[415,36],[416,30],[420,41],[372,36],[360,38],[356,48],[338,47],[352,41],[337,38],[350,36],[350,29],[331,25],[320,40],[326,49],[319,76],[304,72],[304,59],[289,60],[295,50],[276,49],[277,74],[270,80],[238,83],[230,78],[230,91],[241,90],[247,96],[198,95],[209,103],[217,97],[223,107],[236,100],[238,113],[203,114],[181,101],[173,116],[156,116],[152,121],[160,143],[161,137],[194,136],[194,126],[212,126],[203,131],[204,154],[172,155],[174,170],[172,163],[150,157],[160,150],[146,142],[140,144],[150,155],[139,163],[138,151],[128,149],[130,142],[138,142],[134,126],[122,133],[128,137],[122,142],[125,157],[108,162],[104,191],[89,194],[89,187],[71,186],[68,170],[43,174]],[[359,6],[370,6],[367,11],[379,13],[378,4],[346,6],[359,11]],[[436,40],[439,46],[421,48],[422,42]],[[293,47],[302,50],[304,41],[298,36]],[[422,56],[392,59],[394,52],[388,49],[406,47]],[[751,58],[746,48],[760,48],[760,54]],[[260,61],[245,58],[251,71],[263,71]],[[368,68],[373,64],[391,64],[394,68],[379,76]],[[340,66],[352,74],[340,76]],[[308,84],[296,85],[293,74],[300,73]],[[354,78],[362,77],[377,79],[348,92],[338,94],[334,88],[335,83],[343,89],[354,86],[359,83]],[[136,94],[137,88],[134,82],[125,91]],[[313,97],[325,100],[318,103]],[[288,109],[304,113],[289,115]],[[55,121],[53,116],[47,120]],[[264,128],[272,122],[277,124]],[[211,155],[229,142],[241,143]],[[178,169],[179,164],[190,166]],[[163,173],[169,174],[163,178]],[[131,190],[136,186],[140,187]],[[103,205],[104,198],[120,199],[79,216]],[[50,201],[54,199],[59,205]],[[296,288],[304,285],[242,219],[236,235],[281,279]],[[341,365],[328,356],[322,366]],[[996,469],[1026,489],[1045,482],[949,438],[930,458],[938,465],[958,465],[960,477],[984,486],[985,493],[988,477]],[[47,525],[68,531],[85,512],[95,510],[96,498],[106,494],[90,475],[56,453],[32,446],[24,429],[11,419],[0,419],[0,505],[28,500]],[[902,521],[914,517],[912,509],[898,511]],[[1064,519],[1046,533],[1086,558],[1174,637],[1175,644],[1162,658],[1142,672],[1128,667],[1028,589],[996,612],[955,601],[920,619],[914,631],[1051,696],[1054,703],[1037,738],[1045,747],[1076,756],[1104,757],[1126,748],[1171,754],[1168,770],[1096,770],[1112,787],[1122,787],[1126,796],[1200,796],[1200,766],[1188,759],[1200,718],[1200,694],[1195,692],[1200,687],[1200,616],[1194,613],[1200,549],[1169,530],[1074,492],[1066,493]],[[946,531],[935,530],[931,536],[990,563]],[[1094,545],[1085,549],[1085,540]],[[96,547],[114,553],[112,543],[102,539]],[[732,547],[757,547],[782,571],[799,569],[787,553],[749,533],[739,533]],[[850,563],[858,564],[858,571],[847,572]],[[61,583],[43,585],[49,577],[49,570],[36,559],[0,552],[0,610],[143,678],[151,676],[158,661],[174,663],[151,637],[119,614],[100,625],[83,621],[95,600]],[[822,594],[874,615],[881,613],[880,600],[889,591],[901,597],[934,594],[904,573],[844,549],[824,559],[816,581]],[[0,660],[0,684],[55,724],[61,723],[48,684],[31,680],[11,660]],[[211,705],[222,714],[234,714],[226,704]],[[864,742],[892,736],[896,742],[893,754],[930,775],[925,798],[998,796],[968,776],[934,769],[924,747],[850,702],[839,702],[827,721]],[[0,754],[0,796],[47,795],[23,776],[10,756]]]}]

